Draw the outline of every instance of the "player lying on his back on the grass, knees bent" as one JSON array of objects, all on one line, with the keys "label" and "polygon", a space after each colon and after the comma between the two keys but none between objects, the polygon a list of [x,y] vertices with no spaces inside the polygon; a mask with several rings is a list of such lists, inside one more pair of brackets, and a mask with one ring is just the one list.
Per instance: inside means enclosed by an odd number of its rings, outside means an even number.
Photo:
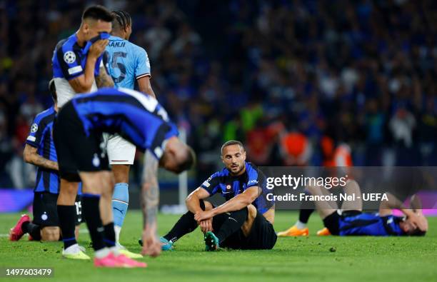
[{"label": "player lying on his back on the grass, knees bent", "polygon": [[[313,196],[328,195],[323,186],[310,186],[308,191]],[[413,196],[411,207],[406,208],[391,193],[387,193],[388,201],[381,201],[378,213],[363,213],[363,201],[358,183],[349,180],[344,192],[355,194],[354,201],[343,201],[338,209],[336,201],[315,201],[316,209],[323,225],[332,235],[339,236],[424,236],[428,231],[428,221],[423,216],[418,197]],[[405,215],[393,216],[393,209]]]}]

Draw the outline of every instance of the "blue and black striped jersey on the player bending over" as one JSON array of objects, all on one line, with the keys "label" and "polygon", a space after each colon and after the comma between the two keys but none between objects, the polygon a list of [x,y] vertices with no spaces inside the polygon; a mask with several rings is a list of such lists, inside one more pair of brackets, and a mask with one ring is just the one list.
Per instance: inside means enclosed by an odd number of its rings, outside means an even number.
[{"label": "blue and black striped jersey on the player bending over", "polygon": [[132,89],[103,88],[74,97],[71,103],[82,121],[85,134],[91,131],[120,134],[156,158],[161,158],[167,139],[179,133],[166,110],[149,95]]}]

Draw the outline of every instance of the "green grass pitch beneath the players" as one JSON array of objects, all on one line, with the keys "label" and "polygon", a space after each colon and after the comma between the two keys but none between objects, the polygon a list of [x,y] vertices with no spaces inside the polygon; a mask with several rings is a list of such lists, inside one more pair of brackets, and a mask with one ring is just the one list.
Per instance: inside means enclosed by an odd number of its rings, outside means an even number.
[{"label": "green grass pitch beneath the players", "polygon": [[[160,234],[168,231],[178,217],[160,215]],[[0,214],[0,233],[8,233],[18,218],[19,213]],[[276,231],[288,228],[296,218],[297,213],[277,212]],[[429,218],[429,226],[423,238],[317,237],[321,220],[314,214],[308,238],[278,238],[272,251],[218,252],[204,251],[198,229],[181,238],[175,251],[164,252],[159,258],[144,258],[149,267],[143,269],[94,268],[91,261],[61,258],[61,242],[29,242],[27,237],[9,242],[2,235],[0,267],[54,268],[54,278],[31,281],[437,281],[437,218]],[[139,252],[140,233],[141,213],[129,211],[121,243]],[[81,233],[79,243],[92,253],[87,233]]]}]

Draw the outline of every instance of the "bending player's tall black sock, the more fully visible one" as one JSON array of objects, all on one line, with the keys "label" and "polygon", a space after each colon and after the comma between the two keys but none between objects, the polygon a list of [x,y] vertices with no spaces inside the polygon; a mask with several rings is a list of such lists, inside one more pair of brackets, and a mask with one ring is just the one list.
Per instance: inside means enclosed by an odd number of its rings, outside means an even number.
[{"label": "bending player's tall black sock, the more fully visible one", "polygon": [[88,226],[89,236],[93,242],[94,251],[105,248],[104,227],[101,223],[99,211],[100,196],[94,194],[82,194],[82,209],[86,226]]}]

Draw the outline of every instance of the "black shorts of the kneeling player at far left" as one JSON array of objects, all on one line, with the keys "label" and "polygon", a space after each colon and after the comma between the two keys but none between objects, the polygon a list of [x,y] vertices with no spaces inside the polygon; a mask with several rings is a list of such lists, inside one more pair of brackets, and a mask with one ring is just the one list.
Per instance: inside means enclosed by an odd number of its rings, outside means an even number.
[{"label": "black shorts of the kneeling player at far left", "polygon": [[[59,226],[56,201],[58,201],[58,194],[49,192],[35,192],[34,220],[32,222],[41,227]],[[76,196],[76,202],[74,205],[76,206],[76,225],[79,225],[82,221],[82,207],[79,196]]]}]

